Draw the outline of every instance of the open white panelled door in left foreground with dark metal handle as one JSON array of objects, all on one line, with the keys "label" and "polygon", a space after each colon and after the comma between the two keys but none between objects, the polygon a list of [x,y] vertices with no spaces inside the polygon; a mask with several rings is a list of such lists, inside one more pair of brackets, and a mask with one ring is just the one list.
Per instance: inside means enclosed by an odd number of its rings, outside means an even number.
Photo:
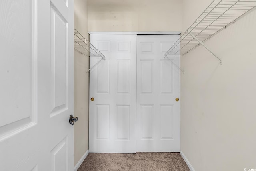
[{"label": "open white panelled door in left foreground with dark metal handle", "polygon": [[74,170],[73,0],[0,1],[0,170]]}]

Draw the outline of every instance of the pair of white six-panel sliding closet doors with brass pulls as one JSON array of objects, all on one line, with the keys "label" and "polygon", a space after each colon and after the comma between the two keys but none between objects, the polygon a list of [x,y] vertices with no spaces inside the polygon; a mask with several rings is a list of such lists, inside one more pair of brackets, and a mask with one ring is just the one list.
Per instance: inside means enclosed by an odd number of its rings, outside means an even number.
[{"label": "pair of white six-panel sliding closet doors with brass pulls", "polygon": [[91,35],[106,61],[90,71],[90,152],[180,151],[180,56],[164,59],[178,38]]}]

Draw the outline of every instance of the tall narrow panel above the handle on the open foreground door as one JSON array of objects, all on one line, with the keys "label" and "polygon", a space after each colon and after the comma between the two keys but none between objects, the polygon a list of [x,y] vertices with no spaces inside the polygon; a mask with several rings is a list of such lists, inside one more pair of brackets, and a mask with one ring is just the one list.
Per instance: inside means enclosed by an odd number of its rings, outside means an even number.
[{"label": "tall narrow panel above the handle on the open foreground door", "polygon": [[67,22],[51,6],[51,117],[63,112],[67,106],[68,47]]}]

